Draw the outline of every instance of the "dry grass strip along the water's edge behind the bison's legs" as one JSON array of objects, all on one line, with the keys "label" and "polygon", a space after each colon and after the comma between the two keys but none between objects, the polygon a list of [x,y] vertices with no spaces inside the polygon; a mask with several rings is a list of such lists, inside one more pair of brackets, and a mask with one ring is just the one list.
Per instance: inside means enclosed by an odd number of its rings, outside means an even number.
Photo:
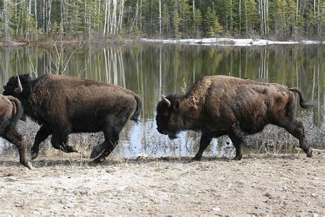
[{"label": "dry grass strip along the water's edge behind the bison's legs", "polygon": [[[306,138],[309,144],[313,148],[324,149],[325,148],[325,131],[324,127],[320,128],[313,124],[313,119],[311,116],[303,114],[300,120],[304,123]],[[34,137],[37,133],[39,126],[27,119],[27,122],[19,123],[20,130],[25,135],[27,140],[27,148],[30,149],[34,142]],[[143,155],[144,156],[161,156],[160,150],[164,150],[169,156],[178,156],[180,152],[185,156],[193,156],[198,150],[200,133],[194,133],[189,131],[186,134],[186,138],[182,141],[182,146],[180,146],[179,141],[168,141],[166,143],[163,137],[157,136],[154,133],[149,133],[149,136],[145,138],[143,142]],[[51,146],[51,137],[49,137],[45,142],[40,144],[40,155],[46,155],[47,157],[56,157],[58,159],[80,159],[88,162],[91,150],[97,144],[101,144],[104,141],[104,135],[102,133],[80,133],[70,135],[69,144],[74,146],[79,151],[78,153],[66,154],[60,150],[56,150]],[[223,152],[224,155],[229,155],[230,157],[234,154],[234,148],[232,144],[228,144],[228,137],[219,137],[217,139],[217,148],[213,150],[212,145],[208,146],[206,150],[207,153]],[[228,144],[228,145],[227,145]],[[243,152],[247,154],[270,154],[278,155],[296,153],[293,150],[299,147],[298,139],[287,133],[283,128],[277,126],[266,126],[263,132],[257,133],[255,135],[249,135],[246,138],[246,145],[243,147]],[[121,144],[119,145],[121,146]],[[123,146],[117,148],[125,148]],[[4,152],[12,154],[16,152],[16,148],[11,144],[6,144],[4,147]],[[164,155],[164,154],[162,154]],[[111,155],[110,155],[111,156]],[[112,153],[114,157],[114,152]]]}]

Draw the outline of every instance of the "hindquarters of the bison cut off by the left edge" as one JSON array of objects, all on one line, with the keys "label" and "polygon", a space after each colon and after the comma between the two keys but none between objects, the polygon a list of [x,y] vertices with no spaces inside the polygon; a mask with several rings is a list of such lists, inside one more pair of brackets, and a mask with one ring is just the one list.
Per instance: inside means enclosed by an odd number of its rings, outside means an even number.
[{"label": "hindquarters of the bison cut off by the left edge", "polygon": [[16,98],[0,94],[0,137],[14,144],[19,150],[19,161],[32,170],[26,157],[25,137],[21,135],[16,125],[23,115],[23,106]]}]

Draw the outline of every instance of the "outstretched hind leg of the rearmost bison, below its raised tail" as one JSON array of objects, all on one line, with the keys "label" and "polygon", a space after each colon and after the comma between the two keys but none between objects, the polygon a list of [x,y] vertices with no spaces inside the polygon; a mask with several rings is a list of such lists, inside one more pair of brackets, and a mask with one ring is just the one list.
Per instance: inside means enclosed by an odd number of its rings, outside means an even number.
[{"label": "outstretched hind leg of the rearmost bison, below its raised tail", "polygon": [[298,122],[296,119],[291,122],[284,121],[285,126],[282,126],[287,130],[291,135],[299,139],[299,146],[306,153],[307,157],[312,157],[312,150],[306,141],[306,137],[304,135],[304,125],[302,122]]}]

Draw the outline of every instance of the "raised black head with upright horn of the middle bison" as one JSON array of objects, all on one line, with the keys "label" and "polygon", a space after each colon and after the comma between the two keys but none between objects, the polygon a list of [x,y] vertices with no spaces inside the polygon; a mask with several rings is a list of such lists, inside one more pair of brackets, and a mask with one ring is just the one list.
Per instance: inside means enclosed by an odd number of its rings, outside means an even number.
[{"label": "raised black head with upright horn of the middle bison", "polygon": [[29,82],[29,74],[12,76],[7,84],[3,86],[3,95],[12,95],[15,98],[21,98],[21,94]]}]

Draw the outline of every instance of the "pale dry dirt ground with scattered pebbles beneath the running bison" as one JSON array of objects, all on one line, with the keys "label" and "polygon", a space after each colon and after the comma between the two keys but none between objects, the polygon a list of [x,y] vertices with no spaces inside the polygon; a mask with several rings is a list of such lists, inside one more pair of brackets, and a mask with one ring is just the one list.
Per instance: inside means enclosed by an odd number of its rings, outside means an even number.
[{"label": "pale dry dirt ground with scattered pebbles beneath the running bison", "polygon": [[0,215],[325,215],[325,155],[0,159]]}]

